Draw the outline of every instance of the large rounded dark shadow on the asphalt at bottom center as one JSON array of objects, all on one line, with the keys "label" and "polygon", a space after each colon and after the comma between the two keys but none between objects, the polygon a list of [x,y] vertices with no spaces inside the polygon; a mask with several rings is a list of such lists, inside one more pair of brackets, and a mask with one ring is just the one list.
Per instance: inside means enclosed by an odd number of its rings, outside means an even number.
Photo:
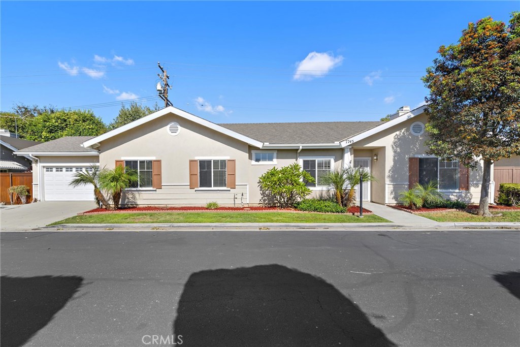
[{"label": "large rounded dark shadow on the asphalt at bottom center", "polygon": [[193,273],[173,333],[183,346],[396,346],[334,286],[277,264]]}]

